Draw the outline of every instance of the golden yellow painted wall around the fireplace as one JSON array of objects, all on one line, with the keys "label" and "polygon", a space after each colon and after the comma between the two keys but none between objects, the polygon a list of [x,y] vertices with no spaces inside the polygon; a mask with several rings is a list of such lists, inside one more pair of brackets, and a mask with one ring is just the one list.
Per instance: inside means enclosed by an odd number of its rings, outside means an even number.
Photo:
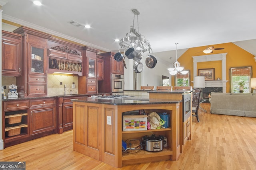
[{"label": "golden yellow painted wall around the fireplace", "polygon": [[[226,92],[230,92],[230,76],[229,69],[230,67],[240,67],[240,66],[252,66],[252,77],[256,78],[256,62],[253,59],[254,55],[248,53],[244,49],[238,47],[234,43],[224,43],[224,44],[216,44],[212,45],[215,48],[224,48],[223,50],[213,51],[211,54],[219,54],[219,53],[228,53],[226,55],[226,80],[227,88]],[[180,66],[184,67],[184,70],[190,70],[190,86],[193,86],[191,81],[194,80],[193,77],[193,58],[192,56],[199,55],[211,55],[204,54],[202,51],[206,49],[206,46],[203,47],[194,47],[188,49],[179,59]],[[202,62],[197,64],[197,69],[201,68],[215,68],[215,80],[219,77],[222,80],[222,65],[221,61],[209,61]],[[197,70],[198,75],[198,70]],[[174,86],[174,76],[172,76],[172,86]]]}]

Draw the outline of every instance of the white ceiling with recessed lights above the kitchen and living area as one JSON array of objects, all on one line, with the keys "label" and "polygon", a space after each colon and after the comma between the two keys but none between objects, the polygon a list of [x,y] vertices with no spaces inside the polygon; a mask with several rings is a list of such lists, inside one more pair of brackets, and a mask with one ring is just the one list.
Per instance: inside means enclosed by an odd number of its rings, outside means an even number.
[{"label": "white ceiling with recessed lights above the kitchen and living area", "polygon": [[[256,0],[40,0],[42,6],[32,0],[0,1],[7,1],[2,7],[4,20],[102,51],[118,50],[114,39],[130,32],[132,9],[138,9],[139,31],[150,41],[153,53],[163,54],[162,60],[175,59],[175,43],[184,52],[234,42],[256,54]],[[75,27],[68,23],[71,20],[91,28]]]}]

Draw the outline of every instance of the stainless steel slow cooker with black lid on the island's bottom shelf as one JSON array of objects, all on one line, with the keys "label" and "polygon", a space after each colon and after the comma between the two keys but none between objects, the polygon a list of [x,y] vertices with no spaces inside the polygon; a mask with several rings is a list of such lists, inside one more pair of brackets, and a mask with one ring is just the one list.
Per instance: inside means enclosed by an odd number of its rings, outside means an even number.
[{"label": "stainless steel slow cooker with black lid on the island's bottom shelf", "polygon": [[146,135],[142,137],[144,149],[150,152],[158,152],[164,149],[164,136],[162,135]]}]

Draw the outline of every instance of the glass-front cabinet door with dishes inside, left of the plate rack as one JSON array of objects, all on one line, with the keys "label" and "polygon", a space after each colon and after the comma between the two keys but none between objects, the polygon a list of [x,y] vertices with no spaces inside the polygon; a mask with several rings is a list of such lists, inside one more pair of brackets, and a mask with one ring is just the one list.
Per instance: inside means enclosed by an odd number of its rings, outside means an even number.
[{"label": "glass-front cabinet door with dishes inside, left of the plate rack", "polygon": [[31,44],[29,46],[29,74],[46,74],[46,48]]}]

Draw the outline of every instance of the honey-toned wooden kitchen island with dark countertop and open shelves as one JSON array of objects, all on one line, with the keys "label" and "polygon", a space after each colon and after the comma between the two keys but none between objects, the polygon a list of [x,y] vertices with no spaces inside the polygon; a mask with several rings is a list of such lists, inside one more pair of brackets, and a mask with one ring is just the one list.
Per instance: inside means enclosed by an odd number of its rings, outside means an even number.
[{"label": "honey-toned wooden kitchen island with dark countertop and open shelves", "polygon": [[[120,168],[128,164],[177,160],[180,156],[180,102],[181,100],[154,99],[131,96],[114,100],[97,98],[73,99],[73,149],[77,152]],[[145,110],[170,114],[170,127],[146,131],[123,131],[124,112]],[[122,153],[122,140],[142,138],[145,135],[163,135],[168,147],[160,152],[139,150]]]}]

